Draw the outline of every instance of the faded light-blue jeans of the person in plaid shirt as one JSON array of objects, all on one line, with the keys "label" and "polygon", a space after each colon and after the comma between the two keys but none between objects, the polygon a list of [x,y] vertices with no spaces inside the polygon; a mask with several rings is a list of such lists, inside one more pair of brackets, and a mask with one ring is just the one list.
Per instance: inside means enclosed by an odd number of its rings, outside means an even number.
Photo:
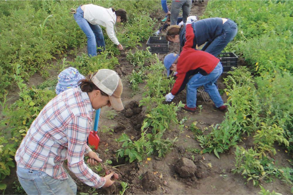
[{"label": "faded light-blue jeans of the person in plaid shirt", "polygon": [[17,166],[18,180],[27,194],[76,194],[76,184],[69,179],[57,180],[47,173]]}]

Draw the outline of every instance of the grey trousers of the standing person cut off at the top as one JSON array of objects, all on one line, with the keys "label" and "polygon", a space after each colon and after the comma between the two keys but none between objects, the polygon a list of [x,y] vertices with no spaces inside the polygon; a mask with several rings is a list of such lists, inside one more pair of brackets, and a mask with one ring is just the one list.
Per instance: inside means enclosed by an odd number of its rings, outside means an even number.
[{"label": "grey trousers of the standing person cut off at the top", "polygon": [[171,4],[171,25],[176,25],[177,24],[177,18],[180,12],[180,9],[182,8],[182,17],[183,17],[183,22],[186,23],[187,17],[190,14],[190,8],[191,8],[191,0],[183,0],[183,1],[172,1]]}]

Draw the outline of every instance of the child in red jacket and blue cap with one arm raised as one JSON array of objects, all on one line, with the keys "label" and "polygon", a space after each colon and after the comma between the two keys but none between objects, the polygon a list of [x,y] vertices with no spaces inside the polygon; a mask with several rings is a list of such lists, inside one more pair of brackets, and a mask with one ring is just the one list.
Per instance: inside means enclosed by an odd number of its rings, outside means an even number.
[{"label": "child in red jacket and blue cap with one arm raised", "polygon": [[[191,25],[195,16],[190,16],[186,22],[186,42],[183,50],[178,54],[168,54],[164,58],[164,66],[167,69],[167,76],[170,70],[177,72],[176,81],[173,88],[166,97],[166,101],[172,101],[175,95],[181,92],[187,84],[186,104],[182,108],[189,112],[196,111],[196,90],[201,85],[204,86],[205,92],[214,102],[214,107],[221,111],[226,109],[224,102],[217,90],[214,82],[223,72],[220,60],[205,51],[195,50],[196,37]],[[190,79],[189,77],[192,76]]]}]

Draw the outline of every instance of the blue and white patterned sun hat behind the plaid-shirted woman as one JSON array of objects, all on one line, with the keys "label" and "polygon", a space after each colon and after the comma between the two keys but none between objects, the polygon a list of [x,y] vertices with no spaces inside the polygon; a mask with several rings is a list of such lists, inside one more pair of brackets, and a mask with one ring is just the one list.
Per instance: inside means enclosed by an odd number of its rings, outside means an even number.
[{"label": "blue and white patterned sun hat behind the plaid-shirted woman", "polygon": [[76,68],[66,68],[58,75],[58,83],[55,88],[57,95],[70,88],[78,87],[78,82],[85,79],[84,75],[80,74]]}]

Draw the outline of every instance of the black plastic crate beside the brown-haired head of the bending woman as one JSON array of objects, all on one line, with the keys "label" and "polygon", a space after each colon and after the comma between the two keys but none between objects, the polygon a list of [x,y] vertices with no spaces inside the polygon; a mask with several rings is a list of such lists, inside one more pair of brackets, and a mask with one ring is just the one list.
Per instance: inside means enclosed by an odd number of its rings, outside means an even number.
[{"label": "black plastic crate beside the brown-haired head of the bending woman", "polygon": [[150,47],[149,52],[152,54],[168,54],[169,42],[165,37],[149,37],[147,47]]}]

